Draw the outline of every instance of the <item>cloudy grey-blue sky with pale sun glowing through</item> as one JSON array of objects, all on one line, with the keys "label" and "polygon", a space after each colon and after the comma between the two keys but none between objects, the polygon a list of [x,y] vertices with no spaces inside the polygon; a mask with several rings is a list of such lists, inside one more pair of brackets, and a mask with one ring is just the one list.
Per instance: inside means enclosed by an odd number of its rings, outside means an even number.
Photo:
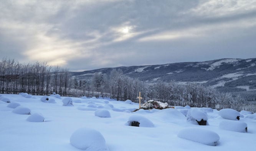
[{"label": "cloudy grey-blue sky with pale sun glowing through", "polygon": [[0,58],[84,71],[256,58],[256,0],[0,0]]}]

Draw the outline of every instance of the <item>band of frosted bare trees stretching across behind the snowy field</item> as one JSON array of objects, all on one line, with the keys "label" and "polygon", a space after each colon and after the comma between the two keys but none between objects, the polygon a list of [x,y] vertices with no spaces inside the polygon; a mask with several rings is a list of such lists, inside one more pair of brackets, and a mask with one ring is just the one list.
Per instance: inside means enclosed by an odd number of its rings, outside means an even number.
[{"label": "band of frosted bare trees stretching across behind the snowy field", "polygon": [[21,64],[14,59],[3,58],[0,61],[0,93],[20,92],[31,95],[55,92],[62,96],[97,96],[134,102],[138,102],[137,96],[141,92],[144,101],[157,100],[172,106],[233,108],[255,112],[255,106],[241,96],[217,92],[199,84],[183,85],[175,81],[145,84],[122,74],[121,70],[113,70],[110,75],[96,72],[91,80],[83,80],[71,77],[68,69],[58,66],[40,62]]}]

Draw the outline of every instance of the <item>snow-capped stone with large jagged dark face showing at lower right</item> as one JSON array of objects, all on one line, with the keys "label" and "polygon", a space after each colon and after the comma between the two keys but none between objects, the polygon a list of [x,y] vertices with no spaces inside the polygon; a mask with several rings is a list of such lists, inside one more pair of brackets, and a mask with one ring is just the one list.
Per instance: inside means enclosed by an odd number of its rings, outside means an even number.
[{"label": "snow-capped stone with large jagged dark face showing at lower right", "polygon": [[205,112],[198,109],[190,109],[187,113],[187,121],[198,125],[209,125],[208,117]]}]

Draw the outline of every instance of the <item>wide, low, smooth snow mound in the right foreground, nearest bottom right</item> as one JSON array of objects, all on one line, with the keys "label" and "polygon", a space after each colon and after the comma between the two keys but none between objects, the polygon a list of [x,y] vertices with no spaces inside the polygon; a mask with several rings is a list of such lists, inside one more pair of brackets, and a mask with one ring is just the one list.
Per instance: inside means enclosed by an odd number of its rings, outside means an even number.
[{"label": "wide, low, smooth snow mound in the right foreground, nearest bottom right", "polygon": [[178,132],[178,137],[210,146],[216,146],[220,140],[220,136],[217,133],[198,128],[183,129]]}]

